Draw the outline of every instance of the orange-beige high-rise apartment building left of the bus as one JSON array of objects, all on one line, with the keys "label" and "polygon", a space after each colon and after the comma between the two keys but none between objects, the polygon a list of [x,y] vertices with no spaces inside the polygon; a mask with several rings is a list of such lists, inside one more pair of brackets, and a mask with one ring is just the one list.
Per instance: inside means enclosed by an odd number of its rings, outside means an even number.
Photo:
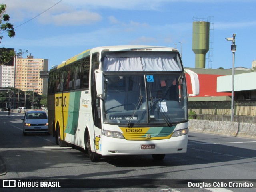
[{"label": "orange-beige high-rise apartment building left of the bus", "polygon": [[48,59],[17,57],[15,65],[15,88],[22,91],[34,91],[40,95],[47,93],[47,79],[39,78],[39,71],[48,70]]}]

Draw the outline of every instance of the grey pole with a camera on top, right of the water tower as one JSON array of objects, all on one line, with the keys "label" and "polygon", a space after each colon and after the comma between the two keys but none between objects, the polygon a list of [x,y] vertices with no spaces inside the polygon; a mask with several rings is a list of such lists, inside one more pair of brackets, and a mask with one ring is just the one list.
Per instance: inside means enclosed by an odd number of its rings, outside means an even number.
[{"label": "grey pole with a camera on top, right of the water tower", "polygon": [[234,76],[235,76],[235,52],[236,52],[236,44],[235,44],[236,34],[233,34],[232,38],[226,38],[227,41],[232,41],[231,51],[233,53],[232,58],[232,91],[231,91],[231,122],[234,120]]}]

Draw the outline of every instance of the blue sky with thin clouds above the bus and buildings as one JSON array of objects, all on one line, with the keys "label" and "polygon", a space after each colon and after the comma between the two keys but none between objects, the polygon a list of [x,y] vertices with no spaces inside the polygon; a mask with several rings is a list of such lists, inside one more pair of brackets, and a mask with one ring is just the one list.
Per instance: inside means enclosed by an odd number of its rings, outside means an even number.
[{"label": "blue sky with thin clouds above the bus and buildings", "polygon": [[[184,67],[195,67],[193,17],[211,21],[212,62],[206,68],[232,68],[256,60],[256,0],[1,0],[14,24],[15,37],[0,47],[28,50],[49,59],[49,69],[98,46],[152,45],[182,51]],[[24,58],[28,53],[23,55]],[[208,57],[208,53],[206,54]]]}]

